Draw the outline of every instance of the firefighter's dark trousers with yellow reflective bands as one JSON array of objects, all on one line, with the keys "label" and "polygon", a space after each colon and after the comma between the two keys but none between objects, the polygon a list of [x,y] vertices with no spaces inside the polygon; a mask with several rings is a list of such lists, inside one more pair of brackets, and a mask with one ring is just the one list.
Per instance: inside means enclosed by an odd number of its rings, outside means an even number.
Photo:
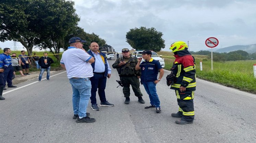
[{"label": "firefighter's dark trousers with yellow reflective bands", "polygon": [[194,91],[184,91],[175,90],[177,101],[179,105],[178,114],[182,114],[181,120],[193,122],[195,117],[194,111]]}]

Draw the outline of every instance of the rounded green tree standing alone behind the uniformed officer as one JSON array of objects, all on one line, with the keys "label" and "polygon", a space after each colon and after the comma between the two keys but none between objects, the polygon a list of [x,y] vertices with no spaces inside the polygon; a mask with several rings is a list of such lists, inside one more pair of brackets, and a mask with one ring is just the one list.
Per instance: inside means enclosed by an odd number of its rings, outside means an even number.
[{"label": "rounded green tree standing alone behind the uniformed officer", "polygon": [[126,42],[134,49],[160,51],[165,47],[162,32],[155,28],[134,28],[126,33]]}]

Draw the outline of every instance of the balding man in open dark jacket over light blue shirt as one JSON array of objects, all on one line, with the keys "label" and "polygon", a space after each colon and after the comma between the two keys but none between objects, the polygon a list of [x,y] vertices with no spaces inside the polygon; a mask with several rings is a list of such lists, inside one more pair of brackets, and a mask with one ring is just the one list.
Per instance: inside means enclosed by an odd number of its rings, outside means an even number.
[{"label": "balding man in open dark jacket over light blue shirt", "polygon": [[106,55],[99,51],[99,45],[96,42],[91,43],[89,48],[88,54],[95,58],[95,62],[91,64],[93,67],[93,77],[90,78],[92,83],[92,96],[90,99],[92,109],[99,111],[96,101],[97,89],[100,97],[100,106],[114,106],[107,101],[105,95],[107,77],[110,78],[111,76],[111,68],[109,67]]}]

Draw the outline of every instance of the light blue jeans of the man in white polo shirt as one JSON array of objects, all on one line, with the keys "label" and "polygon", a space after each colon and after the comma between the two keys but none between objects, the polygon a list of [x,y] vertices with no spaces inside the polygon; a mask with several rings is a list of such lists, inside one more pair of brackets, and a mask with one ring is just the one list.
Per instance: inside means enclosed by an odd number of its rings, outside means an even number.
[{"label": "light blue jeans of the man in white polo shirt", "polygon": [[79,117],[86,116],[86,108],[91,96],[92,85],[89,78],[71,78],[73,110]]}]

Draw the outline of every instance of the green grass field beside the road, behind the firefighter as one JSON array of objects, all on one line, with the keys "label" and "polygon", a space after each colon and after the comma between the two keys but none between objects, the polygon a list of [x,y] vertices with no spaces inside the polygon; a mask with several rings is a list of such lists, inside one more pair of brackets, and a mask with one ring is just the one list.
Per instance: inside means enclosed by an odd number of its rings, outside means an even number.
[{"label": "green grass field beside the road, behind the firefighter", "polygon": [[[172,52],[160,51],[165,61],[164,69],[170,70],[174,57]],[[240,89],[242,91],[256,93],[256,78],[254,78],[253,64],[256,60],[248,61],[228,61],[213,62],[211,70],[211,60],[208,56],[193,55],[196,58],[196,76],[200,79],[216,82],[225,86]],[[200,71],[200,61],[203,64],[203,70]]]}]

